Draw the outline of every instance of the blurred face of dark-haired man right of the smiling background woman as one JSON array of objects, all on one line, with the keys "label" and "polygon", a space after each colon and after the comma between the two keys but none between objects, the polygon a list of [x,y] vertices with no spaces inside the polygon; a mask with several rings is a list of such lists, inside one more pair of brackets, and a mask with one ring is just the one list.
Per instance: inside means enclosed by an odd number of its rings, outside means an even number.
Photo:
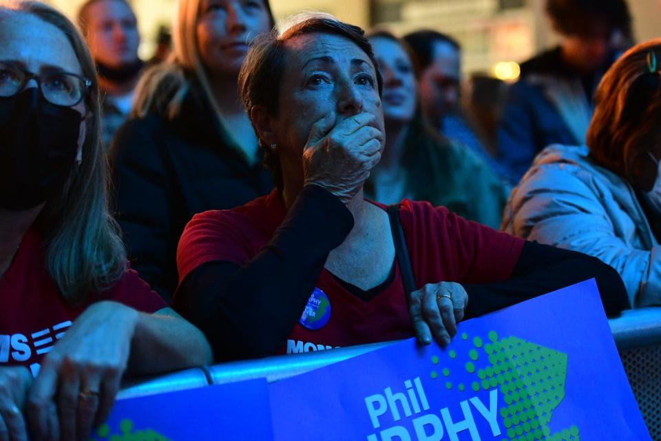
[{"label": "blurred face of dark-haired man right of the smiling background woman", "polygon": [[445,41],[433,45],[432,63],[420,75],[420,99],[424,112],[437,123],[459,108],[461,61],[457,48]]}]

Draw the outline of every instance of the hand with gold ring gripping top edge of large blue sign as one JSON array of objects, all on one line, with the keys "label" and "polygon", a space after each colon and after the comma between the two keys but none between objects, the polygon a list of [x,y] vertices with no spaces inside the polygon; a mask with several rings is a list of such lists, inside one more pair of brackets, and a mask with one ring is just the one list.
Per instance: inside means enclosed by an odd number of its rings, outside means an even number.
[{"label": "hand with gold ring gripping top edge of large blue sign", "polygon": [[409,312],[418,341],[429,345],[434,340],[448,346],[463,320],[468,294],[459,283],[428,283],[411,293]]}]

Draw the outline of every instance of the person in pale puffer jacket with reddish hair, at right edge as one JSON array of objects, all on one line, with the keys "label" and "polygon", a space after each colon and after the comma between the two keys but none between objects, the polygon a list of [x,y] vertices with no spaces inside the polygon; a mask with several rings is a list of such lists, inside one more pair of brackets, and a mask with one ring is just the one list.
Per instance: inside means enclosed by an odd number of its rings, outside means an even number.
[{"label": "person in pale puffer jacket with reddish hair, at right edge", "polygon": [[544,150],[512,191],[503,227],[596,256],[620,273],[632,307],[661,305],[661,39],[606,73],[587,145]]}]

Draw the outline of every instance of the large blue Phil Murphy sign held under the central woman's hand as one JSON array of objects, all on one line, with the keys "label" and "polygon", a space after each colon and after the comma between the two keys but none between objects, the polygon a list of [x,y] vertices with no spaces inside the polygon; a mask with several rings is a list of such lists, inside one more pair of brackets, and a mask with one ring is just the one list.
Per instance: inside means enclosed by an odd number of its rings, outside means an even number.
[{"label": "large blue Phil Murphy sign held under the central woman's hand", "polygon": [[650,440],[594,280],[270,388],[275,440]]}]

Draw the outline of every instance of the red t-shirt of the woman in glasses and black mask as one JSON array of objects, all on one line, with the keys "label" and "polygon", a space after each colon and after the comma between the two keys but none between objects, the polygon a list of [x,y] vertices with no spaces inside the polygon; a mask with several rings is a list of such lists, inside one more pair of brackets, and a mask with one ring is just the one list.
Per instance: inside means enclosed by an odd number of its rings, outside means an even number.
[{"label": "red t-shirt of the woman in glasses and black mask", "polygon": [[41,236],[33,230],[23,236],[14,262],[0,278],[0,299],[0,366],[24,365],[35,376],[41,358],[91,302],[114,300],[147,313],[167,307],[132,269],[87,305],[70,307],[45,268]]}]

